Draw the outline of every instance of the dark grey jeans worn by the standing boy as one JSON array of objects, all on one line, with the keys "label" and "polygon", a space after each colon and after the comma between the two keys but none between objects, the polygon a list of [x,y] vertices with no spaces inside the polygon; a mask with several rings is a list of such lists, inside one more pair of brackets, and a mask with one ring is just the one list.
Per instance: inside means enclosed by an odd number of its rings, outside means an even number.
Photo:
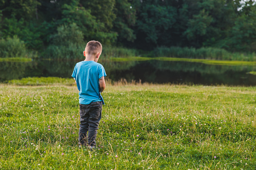
[{"label": "dark grey jeans worn by the standing boy", "polygon": [[[102,102],[80,104],[79,144],[96,146],[98,125],[101,119]],[[88,132],[88,135],[87,135]]]}]

